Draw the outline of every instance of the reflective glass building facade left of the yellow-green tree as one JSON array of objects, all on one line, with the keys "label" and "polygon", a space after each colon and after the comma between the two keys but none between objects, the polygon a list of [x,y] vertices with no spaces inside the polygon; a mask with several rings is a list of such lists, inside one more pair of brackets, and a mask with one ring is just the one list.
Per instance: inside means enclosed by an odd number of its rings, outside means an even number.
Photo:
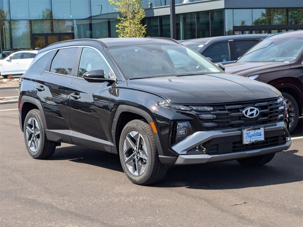
[{"label": "reflective glass building facade left of the yellow-green tree", "polygon": [[0,0],[0,58],[68,39],[118,37],[117,15],[107,0]]}]

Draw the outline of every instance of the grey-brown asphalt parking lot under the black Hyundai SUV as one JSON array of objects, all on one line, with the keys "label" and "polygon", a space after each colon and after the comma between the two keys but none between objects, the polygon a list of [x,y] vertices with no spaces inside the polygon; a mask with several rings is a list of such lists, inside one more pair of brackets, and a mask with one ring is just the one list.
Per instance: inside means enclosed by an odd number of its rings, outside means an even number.
[{"label": "grey-brown asphalt parking lot under the black Hyundai SUV", "polygon": [[138,186],[106,152],[62,144],[34,160],[15,108],[0,106],[13,109],[0,111],[0,226],[302,226],[302,118],[290,149],[265,166],[180,166]]}]

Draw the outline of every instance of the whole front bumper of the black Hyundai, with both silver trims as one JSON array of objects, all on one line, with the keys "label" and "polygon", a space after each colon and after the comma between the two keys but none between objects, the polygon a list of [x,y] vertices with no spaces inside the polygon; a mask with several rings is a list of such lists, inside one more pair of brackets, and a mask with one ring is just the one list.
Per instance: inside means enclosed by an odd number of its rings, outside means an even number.
[{"label": "whole front bumper of the black Hyundai, with both silver trims", "polygon": [[[163,164],[170,165],[186,165],[186,164],[198,164],[198,163],[209,163],[209,162],[218,162],[218,161],[228,161],[235,160],[240,158],[246,158],[251,156],[258,156],[268,153],[275,153],[282,150],[287,150],[291,146],[291,140],[288,130],[285,127],[284,122],[278,122],[268,125],[260,125],[258,127],[264,127],[265,137],[266,135],[277,135],[285,133],[286,140],[277,144],[263,146],[252,146],[249,150],[243,148],[243,150],[237,150],[233,152],[232,140],[234,142],[239,142],[241,140],[241,128],[238,129],[227,129],[227,130],[213,130],[213,131],[199,131],[193,133],[191,136],[185,138],[179,143],[173,145],[171,148],[179,156],[176,158],[168,158],[164,156],[159,156]],[[223,147],[224,152],[220,153],[204,153],[204,154],[190,154],[191,150],[194,150],[196,146],[199,146],[207,141],[219,141],[221,142],[221,148]],[[228,144],[230,146],[228,146]],[[223,145],[223,146],[222,146]],[[219,146],[220,147],[220,146]],[[220,150],[218,150],[220,151]],[[225,152],[226,151],[226,152]]]}]

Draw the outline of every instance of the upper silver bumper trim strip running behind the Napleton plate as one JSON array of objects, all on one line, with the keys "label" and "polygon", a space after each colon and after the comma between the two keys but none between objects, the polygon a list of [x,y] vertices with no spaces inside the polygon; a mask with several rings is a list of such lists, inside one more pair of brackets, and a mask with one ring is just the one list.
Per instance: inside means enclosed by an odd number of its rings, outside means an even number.
[{"label": "upper silver bumper trim strip running behind the Napleton plate", "polygon": [[[284,128],[284,122],[278,122],[274,124],[268,125],[258,125],[255,127],[264,127],[264,131],[271,131],[271,130],[279,130]],[[253,127],[247,127],[253,128]],[[242,128],[241,128],[242,129]],[[185,154],[188,150],[204,143],[210,139],[217,138],[217,137],[227,137],[227,136],[235,136],[241,135],[241,129],[235,129],[235,131],[226,131],[226,130],[213,130],[213,131],[199,131],[195,132],[189,137],[185,138],[184,140],[180,141],[179,143],[175,144],[171,148],[177,152],[178,154]]]}]

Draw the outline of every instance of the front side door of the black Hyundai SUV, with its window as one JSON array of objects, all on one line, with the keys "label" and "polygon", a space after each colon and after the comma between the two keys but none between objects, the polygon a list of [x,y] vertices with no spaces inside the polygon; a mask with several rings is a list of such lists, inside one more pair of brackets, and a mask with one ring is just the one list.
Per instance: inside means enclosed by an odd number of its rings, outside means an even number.
[{"label": "front side door of the black Hyundai SUV, with its window", "polygon": [[78,77],[74,77],[70,87],[72,140],[78,145],[82,145],[78,137],[100,143],[108,141],[109,90],[112,86],[108,82],[93,83],[82,78],[85,72],[97,69],[103,69],[106,77],[113,77],[110,67],[97,49],[82,48]]}]

